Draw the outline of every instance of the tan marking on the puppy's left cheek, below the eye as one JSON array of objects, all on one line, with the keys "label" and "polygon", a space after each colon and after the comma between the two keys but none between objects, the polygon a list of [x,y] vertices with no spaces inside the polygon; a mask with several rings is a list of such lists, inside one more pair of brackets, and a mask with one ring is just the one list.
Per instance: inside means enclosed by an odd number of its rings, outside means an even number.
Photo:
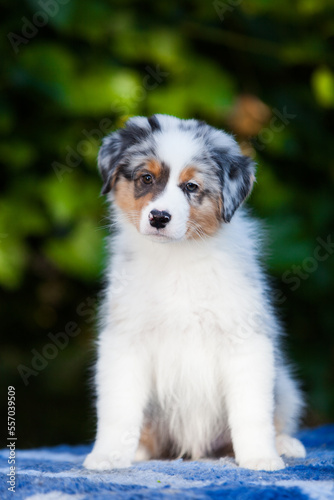
[{"label": "tan marking on the puppy's left cheek, below the eye", "polygon": [[133,181],[129,181],[124,177],[120,178],[115,185],[115,203],[139,230],[141,211],[152,200],[153,193],[148,193],[136,199],[134,186]]}]

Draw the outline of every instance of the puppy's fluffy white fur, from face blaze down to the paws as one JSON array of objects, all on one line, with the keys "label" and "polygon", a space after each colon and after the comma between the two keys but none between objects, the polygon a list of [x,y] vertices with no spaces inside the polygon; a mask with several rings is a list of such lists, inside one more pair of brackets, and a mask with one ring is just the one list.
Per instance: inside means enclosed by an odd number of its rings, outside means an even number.
[{"label": "puppy's fluffy white fur, from face blaze down to the paws", "polygon": [[[241,209],[213,236],[182,238],[189,209],[176,178],[187,155],[177,138],[175,147],[170,137],[157,142],[173,175],[143,208],[139,230],[115,207],[96,365],[97,436],[85,466],[128,467],[136,451],[149,458],[138,444],[150,419],[160,443],[172,443],[180,456],[200,458],[231,441],[241,467],[283,468],[280,455],[305,455],[291,437],[302,399],[280,354],[258,225]],[[148,222],[153,207],[172,213],[157,238]]]}]

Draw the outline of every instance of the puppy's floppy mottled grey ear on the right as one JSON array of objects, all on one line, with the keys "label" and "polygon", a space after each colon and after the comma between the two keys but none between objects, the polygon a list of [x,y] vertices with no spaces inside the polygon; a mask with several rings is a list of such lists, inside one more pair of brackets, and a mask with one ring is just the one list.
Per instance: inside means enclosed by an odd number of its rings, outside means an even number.
[{"label": "puppy's floppy mottled grey ear on the right", "polygon": [[224,222],[230,222],[234,212],[250,194],[255,180],[255,164],[251,158],[225,151],[215,154],[222,186]]}]

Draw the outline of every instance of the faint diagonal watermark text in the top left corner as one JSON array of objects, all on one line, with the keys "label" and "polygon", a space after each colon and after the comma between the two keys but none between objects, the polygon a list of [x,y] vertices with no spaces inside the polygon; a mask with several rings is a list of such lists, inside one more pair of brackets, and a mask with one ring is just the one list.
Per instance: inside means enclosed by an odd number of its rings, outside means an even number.
[{"label": "faint diagonal watermark text in the top left corner", "polygon": [[61,5],[65,5],[70,0],[39,0],[38,5],[41,10],[37,10],[31,19],[23,16],[21,17],[22,27],[21,33],[7,33],[7,38],[14,50],[15,54],[19,53],[21,45],[27,45],[30,40],[35,38],[41,28],[44,28],[49,22],[49,19],[55,17]]}]

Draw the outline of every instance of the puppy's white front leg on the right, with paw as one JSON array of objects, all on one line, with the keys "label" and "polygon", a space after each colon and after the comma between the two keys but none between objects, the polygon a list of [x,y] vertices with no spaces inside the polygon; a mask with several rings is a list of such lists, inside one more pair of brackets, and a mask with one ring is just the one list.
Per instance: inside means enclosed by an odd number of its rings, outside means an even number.
[{"label": "puppy's white front leg on the right, with paw", "polygon": [[270,339],[253,333],[236,347],[226,368],[226,405],[237,463],[254,470],[283,469],[275,447]]}]

